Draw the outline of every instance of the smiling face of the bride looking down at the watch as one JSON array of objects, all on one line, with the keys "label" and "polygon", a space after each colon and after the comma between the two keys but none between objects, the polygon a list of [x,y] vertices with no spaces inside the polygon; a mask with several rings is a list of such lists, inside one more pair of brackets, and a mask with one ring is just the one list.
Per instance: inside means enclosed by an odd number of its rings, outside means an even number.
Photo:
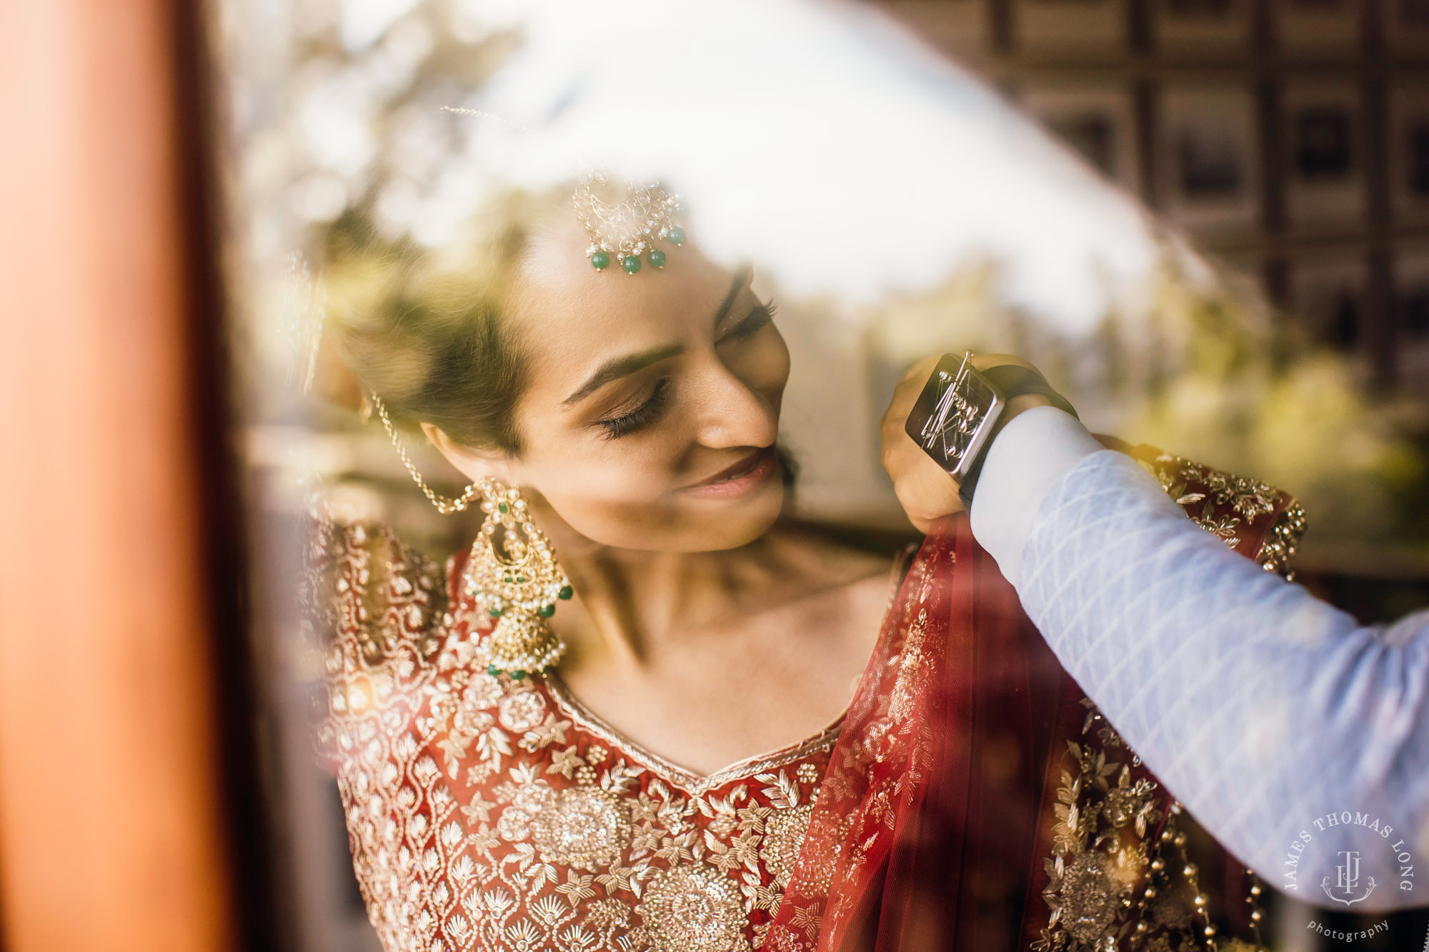
[{"label": "smiling face of the bride looking down at the watch", "polygon": [[767,302],[749,270],[689,244],[632,276],[596,272],[587,242],[572,222],[530,249],[512,310],[529,367],[522,453],[504,475],[599,545],[752,542],[785,493],[775,439],[789,349]]}]

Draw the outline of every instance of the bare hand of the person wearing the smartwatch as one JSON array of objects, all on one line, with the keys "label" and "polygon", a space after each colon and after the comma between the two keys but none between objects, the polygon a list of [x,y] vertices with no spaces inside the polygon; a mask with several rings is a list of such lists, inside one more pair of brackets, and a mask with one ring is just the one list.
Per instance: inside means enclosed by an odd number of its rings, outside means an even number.
[{"label": "bare hand of the person wearing the smartwatch", "polygon": [[[923,533],[930,532],[933,523],[943,516],[963,510],[963,500],[957,496],[957,480],[943,472],[903,429],[907,423],[907,415],[913,412],[913,403],[923,392],[923,385],[927,383],[929,375],[937,366],[939,357],[940,354],[927,357],[909,367],[903,379],[893,387],[893,400],[879,425],[879,433],[883,439],[883,469],[893,480],[893,492],[897,495],[903,512]],[[982,353],[973,357],[973,366],[979,370],[1007,363],[1036,370],[1022,357],[1009,353]],[[1015,397],[1007,405],[1003,419],[1010,420],[1023,410],[1050,405],[1047,397],[1027,393]]]}]

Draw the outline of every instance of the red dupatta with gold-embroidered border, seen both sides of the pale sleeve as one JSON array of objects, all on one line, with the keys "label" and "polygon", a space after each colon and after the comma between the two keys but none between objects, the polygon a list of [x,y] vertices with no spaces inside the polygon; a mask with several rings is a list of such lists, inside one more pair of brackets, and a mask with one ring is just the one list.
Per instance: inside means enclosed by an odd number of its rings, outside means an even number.
[{"label": "red dupatta with gold-embroidered border, seen both sides of the pale sleeve", "polygon": [[[1289,497],[1149,447],[1133,455],[1236,550],[1262,563],[1293,552],[1303,517]],[[955,516],[927,536],[887,613],[762,949],[1205,942],[1177,812]],[[1200,881],[1233,892],[1236,876]],[[1249,922],[1243,903],[1218,905]]]}]

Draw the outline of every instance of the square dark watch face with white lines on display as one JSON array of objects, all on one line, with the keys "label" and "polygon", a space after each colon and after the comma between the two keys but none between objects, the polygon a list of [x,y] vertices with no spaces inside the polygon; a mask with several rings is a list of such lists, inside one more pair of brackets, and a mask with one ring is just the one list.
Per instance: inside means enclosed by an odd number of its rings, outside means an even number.
[{"label": "square dark watch face with white lines on display", "polygon": [[905,429],[933,462],[960,482],[977,459],[1002,407],[1002,392],[973,367],[972,353],[962,357],[945,353],[917,396]]}]

